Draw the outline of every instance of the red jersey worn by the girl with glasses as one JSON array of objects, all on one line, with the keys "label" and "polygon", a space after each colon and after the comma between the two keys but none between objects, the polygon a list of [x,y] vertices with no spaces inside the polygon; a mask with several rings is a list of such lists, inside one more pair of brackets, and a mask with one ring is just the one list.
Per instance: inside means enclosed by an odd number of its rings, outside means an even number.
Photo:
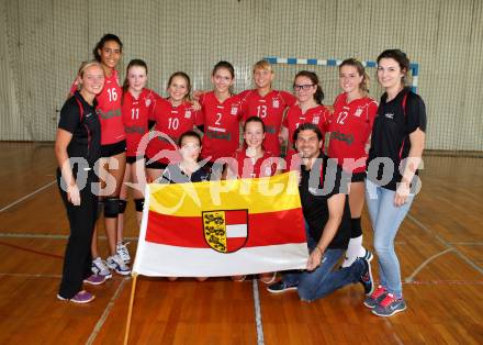
[{"label": "red jersey worn by the girl with glasses", "polygon": [[293,133],[302,123],[313,123],[317,125],[321,129],[323,135],[322,140],[324,143],[324,136],[328,130],[329,120],[330,113],[324,105],[311,108],[305,113],[302,113],[302,109],[300,109],[297,104],[290,107],[285,119],[283,120],[283,126],[289,130],[288,155],[293,151]]}]

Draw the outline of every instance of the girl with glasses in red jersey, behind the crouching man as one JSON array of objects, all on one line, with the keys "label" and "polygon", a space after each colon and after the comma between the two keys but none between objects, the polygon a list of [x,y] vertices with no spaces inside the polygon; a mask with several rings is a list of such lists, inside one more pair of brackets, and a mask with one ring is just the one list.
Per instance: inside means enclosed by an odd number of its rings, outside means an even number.
[{"label": "girl with glasses in red jersey, behind the crouching man", "polygon": [[293,91],[295,92],[296,104],[289,108],[281,131],[282,140],[287,141],[287,157],[289,159],[295,153],[292,136],[299,125],[302,123],[316,124],[325,135],[330,119],[327,108],[322,105],[324,91],[315,73],[299,71],[293,81]]}]

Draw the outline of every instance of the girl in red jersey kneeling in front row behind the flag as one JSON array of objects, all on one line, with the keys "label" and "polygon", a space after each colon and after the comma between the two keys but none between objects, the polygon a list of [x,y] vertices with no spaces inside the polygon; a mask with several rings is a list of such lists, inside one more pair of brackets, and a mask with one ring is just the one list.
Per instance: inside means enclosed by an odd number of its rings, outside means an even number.
[{"label": "girl in red jersey kneeling in front row behind the flag", "polygon": [[[259,178],[273,176],[280,172],[279,159],[272,153],[265,151],[266,131],[265,123],[258,116],[248,118],[244,124],[244,140],[246,147],[237,149],[233,157],[235,160],[228,164],[226,170],[227,178]],[[232,277],[235,281],[245,280],[246,276]],[[260,280],[265,283],[272,283],[277,272],[266,272],[260,275]]]}]

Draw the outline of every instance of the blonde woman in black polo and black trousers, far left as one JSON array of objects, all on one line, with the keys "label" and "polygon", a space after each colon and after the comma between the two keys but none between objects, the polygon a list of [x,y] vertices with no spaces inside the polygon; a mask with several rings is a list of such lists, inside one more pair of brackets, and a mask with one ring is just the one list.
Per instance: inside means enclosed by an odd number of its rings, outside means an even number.
[{"label": "blonde woman in black polo and black trousers, far left", "polygon": [[[88,303],[94,296],[82,290],[82,281],[91,285],[105,281],[105,277],[92,275],[90,251],[98,209],[96,188],[92,190],[98,182],[93,166],[101,156],[101,125],[96,112],[96,96],[104,86],[101,65],[83,64],[77,81],[80,91],[64,104],[55,142],[57,183],[70,225],[57,298]],[[78,164],[74,165],[72,159]]]}]

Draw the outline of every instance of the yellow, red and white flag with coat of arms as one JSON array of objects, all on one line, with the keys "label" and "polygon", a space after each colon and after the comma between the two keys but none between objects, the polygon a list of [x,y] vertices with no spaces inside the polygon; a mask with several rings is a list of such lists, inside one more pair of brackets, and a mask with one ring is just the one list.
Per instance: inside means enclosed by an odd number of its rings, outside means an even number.
[{"label": "yellow, red and white flag with coat of arms", "polygon": [[148,185],[133,271],[214,277],[305,268],[296,172]]}]

